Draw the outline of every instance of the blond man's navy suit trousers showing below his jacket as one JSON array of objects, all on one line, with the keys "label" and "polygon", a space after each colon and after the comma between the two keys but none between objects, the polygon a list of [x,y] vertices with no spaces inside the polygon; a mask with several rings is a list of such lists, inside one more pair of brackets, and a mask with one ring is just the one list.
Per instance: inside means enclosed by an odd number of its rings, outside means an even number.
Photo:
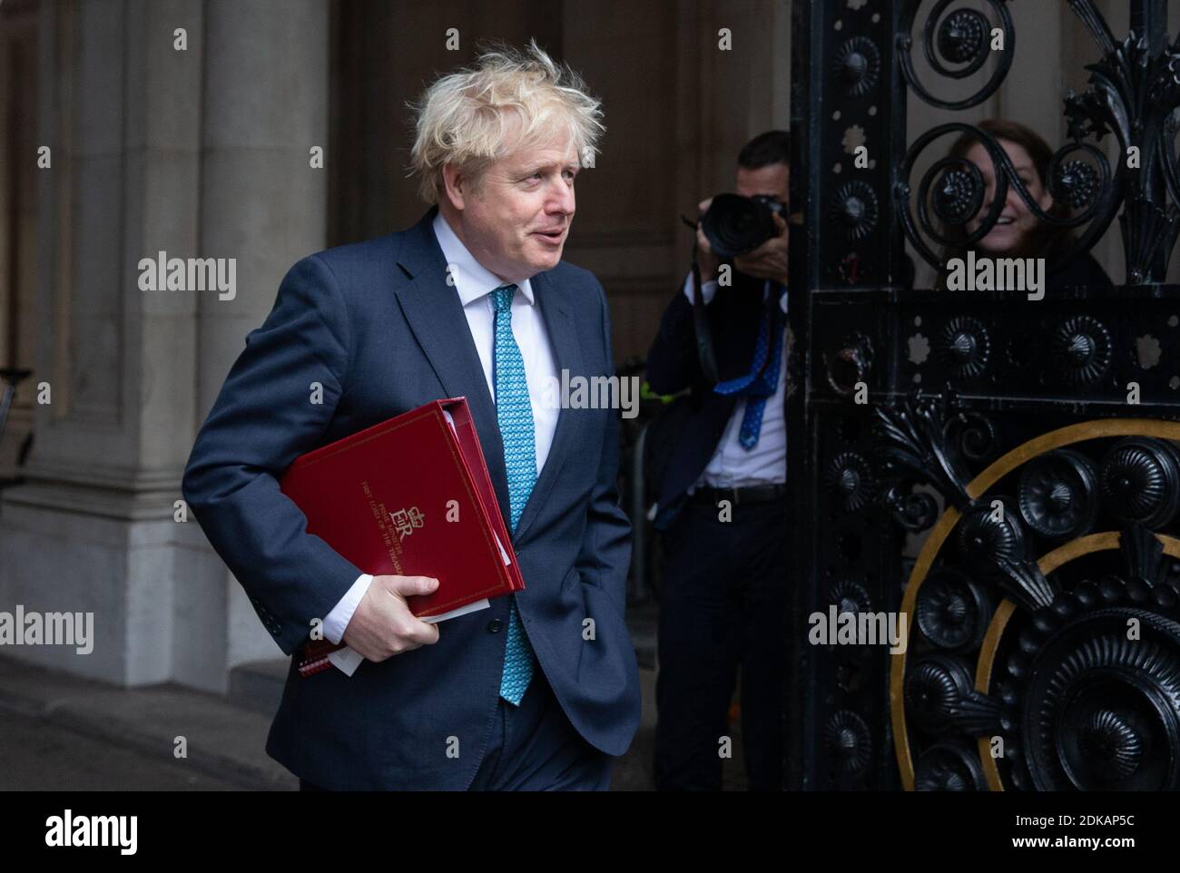
[{"label": "blond man's navy suit trousers showing below his jacket", "polygon": [[[588,743],[570,724],[539,667],[520,705],[503,697],[490,727],[487,750],[473,792],[605,792],[614,759]],[[300,780],[300,790],[323,790]]]}]

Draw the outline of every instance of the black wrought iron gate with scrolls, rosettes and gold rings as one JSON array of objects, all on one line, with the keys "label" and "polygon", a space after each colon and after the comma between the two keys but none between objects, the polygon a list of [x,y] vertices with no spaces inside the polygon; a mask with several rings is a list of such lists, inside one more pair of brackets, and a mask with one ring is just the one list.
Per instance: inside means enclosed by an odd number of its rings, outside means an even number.
[{"label": "black wrought iron gate with scrolls, rosettes and gold rings", "polygon": [[[907,238],[938,262],[939,235],[982,203],[964,162],[910,175],[1020,51],[1003,0],[794,4],[794,787],[1180,787],[1180,287],[1162,284],[1180,227],[1180,40],[1166,40],[1166,0],[1133,0],[1130,34],[1089,0],[1068,6],[1094,39],[1077,63],[1094,65],[1088,91],[1062,96],[1070,139],[1050,191],[1079,249],[1119,218],[1127,274],[1029,300],[902,278]],[[940,101],[919,52],[936,79],[994,72]],[[919,99],[948,123],[907,143]],[[997,184],[1021,189],[977,136]],[[904,613],[904,652],[812,644],[833,604]]]}]

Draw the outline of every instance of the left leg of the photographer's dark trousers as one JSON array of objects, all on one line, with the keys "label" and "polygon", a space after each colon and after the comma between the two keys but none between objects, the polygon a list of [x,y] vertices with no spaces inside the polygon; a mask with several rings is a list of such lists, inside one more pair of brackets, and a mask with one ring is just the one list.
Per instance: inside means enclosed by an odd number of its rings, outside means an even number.
[{"label": "left leg of the photographer's dark trousers", "polygon": [[[689,501],[664,539],[656,639],[655,781],[660,790],[719,790],[721,737],[738,668],[734,529]],[[732,741],[730,741],[732,743]]]}]

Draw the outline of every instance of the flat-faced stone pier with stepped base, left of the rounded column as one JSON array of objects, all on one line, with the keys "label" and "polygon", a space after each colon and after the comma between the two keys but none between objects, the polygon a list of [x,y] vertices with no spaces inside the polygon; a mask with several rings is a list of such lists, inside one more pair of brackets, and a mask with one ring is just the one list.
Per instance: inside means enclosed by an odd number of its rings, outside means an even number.
[{"label": "flat-faced stone pier with stepped base, left of the rounded column", "polygon": [[112,682],[170,677],[172,500],[192,429],[194,301],[138,289],[146,252],[197,243],[199,5],[41,5],[37,372],[27,485],[0,524],[0,609],[93,612],[93,651],[4,654]]}]

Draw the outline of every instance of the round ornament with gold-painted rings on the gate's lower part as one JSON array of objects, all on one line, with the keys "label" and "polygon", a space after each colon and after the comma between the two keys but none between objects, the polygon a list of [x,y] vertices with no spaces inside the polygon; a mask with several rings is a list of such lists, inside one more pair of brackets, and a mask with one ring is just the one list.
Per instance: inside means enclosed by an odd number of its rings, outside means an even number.
[{"label": "round ornament with gold-painted rings on the gate's lower part", "polygon": [[[904,416],[881,415],[881,419],[892,424]],[[919,431],[911,427],[909,435]],[[898,442],[896,425],[891,435]],[[902,435],[905,436],[904,433]],[[1107,457],[1102,475],[1106,479],[1099,483],[1094,465],[1067,447],[1110,438],[1121,438],[1121,441],[1104,449]],[[1109,419],[1070,425],[1017,446],[965,486],[953,483],[953,491],[958,494],[950,495],[948,508],[931,529],[906,584],[902,611],[906,613],[910,638],[905,650],[892,656],[890,668],[893,742],[906,790],[916,787],[916,760],[906,714],[906,681],[914,676],[917,669],[925,671],[912,680],[923,694],[943,695],[938,701],[942,708],[930,711],[939,717],[950,713],[962,733],[976,737],[977,760],[964,759],[962,747],[955,743],[936,742],[925,750],[945,756],[932,772],[945,774],[948,785],[936,779],[939,782],[937,787],[953,787],[964,780],[972,783],[964,787],[985,786],[992,790],[1008,787],[991,754],[991,737],[981,735],[982,726],[990,724],[1002,726],[996,733],[1008,743],[1020,746],[1018,762],[1009,767],[1014,782],[1020,782],[1015,787],[1175,787],[1180,779],[1178,764],[1169,766],[1166,761],[1152,759],[1150,749],[1161,744],[1174,746],[1180,737],[1180,605],[1175,589],[1162,583],[1165,570],[1160,559],[1161,554],[1180,559],[1180,539],[1158,530],[1178,516],[1180,494],[1174,498],[1162,494],[1161,500],[1173,500],[1162,510],[1159,506],[1141,506],[1143,501],[1136,503],[1136,499],[1146,499],[1150,494],[1147,491],[1136,493],[1136,488],[1156,485],[1136,481],[1135,471],[1139,467],[1134,462],[1141,460],[1139,454],[1148,457],[1152,451],[1159,451],[1172,460],[1156,460],[1174,465],[1171,470],[1175,471],[1180,468],[1180,454],[1173,451],[1169,442],[1153,440],[1180,441],[1180,422]],[[904,451],[911,452],[910,461],[913,460],[913,445],[911,440],[903,446]],[[1112,452],[1121,452],[1126,458],[1112,455]],[[1055,453],[1054,457],[1045,460],[1050,453]],[[933,457],[938,452],[930,454]],[[1099,488],[1101,485],[1108,501],[1122,500],[1129,507],[1125,507],[1127,511],[1123,513],[1114,514],[1122,517],[1132,510],[1141,510],[1148,513],[1145,517],[1147,524],[1133,523],[1122,530],[1090,532],[1088,527],[1094,517],[1047,518],[1043,524],[1038,519],[1034,530],[1041,537],[1038,541],[1055,545],[1035,559],[1024,557],[1022,537],[1025,534],[1021,533],[1020,521],[1009,527],[971,527],[972,518],[979,516],[979,507],[989,504],[978,498],[988,495],[1005,475],[1014,472],[1023,475],[1027,465],[1036,461],[1043,466],[1058,457],[1064,457],[1069,464],[1073,479],[1063,484],[1049,477],[1040,491],[1038,483],[1034,481],[1022,492],[1032,495],[1027,499],[1043,500],[1045,506],[1051,507],[1054,500],[1062,499],[1055,490]],[[951,461],[942,457],[938,460],[943,462],[938,474],[950,481],[953,477],[949,477],[948,471],[956,472],[951,470]],[[909,466],[913,468],[912,462]],[[1096,493],[1092,497],[1094,500],[1102,499]],[[1153,510],[1154,514],[1149,514]],[[1149,527],[1156,529],[1155,532]],[[946,657],[944,652],[935,650],[914,658],[912,651],[917,638],[926,639],[916,629],[918,622],[913,621],[923,585],[932,576],[956,573],[953,566],[939,565],[939,556],[952,534],[959,549],[977,547],[986,552],[989,566],[1004,577],[999,586],[1003,599],[994,610],[986,592],[982,592],[982,586],[974,585],[965,575],[940,578],[936,583],[953,588],[958,598],[955,609],[975,610],[979,615],[983,615],[982,610],[991,610],[982,641],[978,636],[957,638],[953,628],[948,628],[945,632],[949,636],[939,639],[944,649],[961,654],[977,651],[974,676],[964,675],[962,662]],[[1055,580],[1058,570],[1112,550],[1122,550],[1129,570],[1107,573],[1095,580],[1087,578],[1068,590]],[[1146,578],[1150,576],[1155,578]],[[1120,646],[1120,629],[1128,622],[1142,625],[1143,636],[1135,641],[1141,645]],[[1094,654],[1090,650],[1095,646],[1088,642],[1092,639],[1113,643]],[[1003,684],[997,681],[1002,672],[1017,691],[997,691],[997,687]],[[1121,684],[1112,684],[1113,680],[1102,684],[1104,680],[1101,677],[1112,675],[1117,675]],[[1068,688],[1069,694],[1057,700],[1055,695],[1061,688]],[[1061,711],[1074,720],[1071,723],[1076,724],[1076,730],[1071,730],[1064,742],[1061,737],[1054,742],[1049,727],[1042,730],[1038,726],[1023,723],[1027,720],[1022,720],[1021,707],[1031,694],[1051,698],[1053,705],[1061,707]],[[911,701],[911,708],[916,708],[919,715],[922,700]],[[1156,715],[1145,715],[1147,710]],[[914,727],[922,729],[920,724]],[[925,727],[929,728],[930,722]],[[930,733],[931,736],[936,734]],[[1022,774],[1020,779],[1017,774]]]}]

